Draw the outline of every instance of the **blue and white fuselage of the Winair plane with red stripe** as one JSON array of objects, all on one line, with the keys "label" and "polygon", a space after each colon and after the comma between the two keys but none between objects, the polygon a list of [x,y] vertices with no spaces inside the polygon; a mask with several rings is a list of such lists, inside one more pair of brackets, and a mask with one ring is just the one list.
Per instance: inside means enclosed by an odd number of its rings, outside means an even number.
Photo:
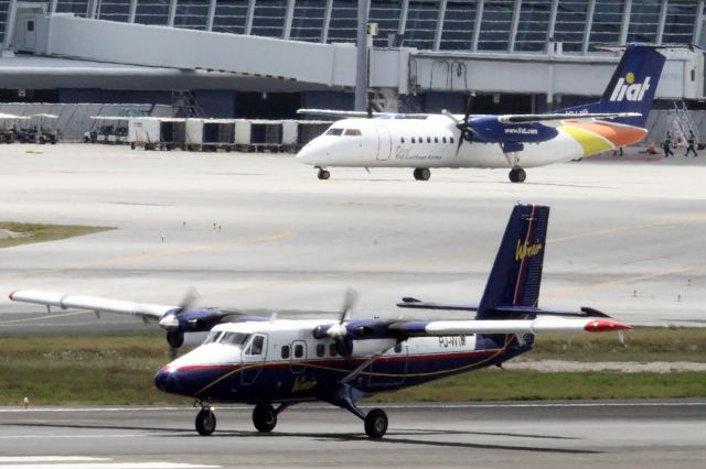
[{"label": "blue and white fuselage of the Winair plane with red stripe", "polygon": [[[163,367],[156,375],[165,392],[218,402],[301,402],[328,400],[327,393],[362,363],[386,350],[351,384],[366,394],[394,391],[515,357],[531,349],[514,336],[452,335],[355,340],[342,357],[335,340],[315,339],[321,320],[220,325],[212,336],[238,331],[243,343],[216,340]],[[239,340],[239,339],[238,339]],[[253,353],[255,341],[261,345]]]}]

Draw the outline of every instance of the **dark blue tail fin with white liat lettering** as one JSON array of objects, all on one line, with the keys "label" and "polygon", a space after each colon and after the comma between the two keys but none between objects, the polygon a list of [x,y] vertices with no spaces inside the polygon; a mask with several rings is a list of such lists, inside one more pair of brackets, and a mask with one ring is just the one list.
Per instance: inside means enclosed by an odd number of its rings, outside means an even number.
[{"label": "dark blue tail fin with white liat lettering", "polygon": [[611,121],[644,128],[664,61],[654,46],[629,44],[600,101],[557,112],[640,112],[641,117]]}]

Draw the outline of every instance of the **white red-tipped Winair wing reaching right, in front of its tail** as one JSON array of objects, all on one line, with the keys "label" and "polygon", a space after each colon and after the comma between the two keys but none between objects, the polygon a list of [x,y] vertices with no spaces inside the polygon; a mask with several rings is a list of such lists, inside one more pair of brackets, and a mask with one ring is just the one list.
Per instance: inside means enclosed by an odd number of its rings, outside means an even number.
[{"label": "white red-tipped Winair wing reaching right, in front of its tail", "polygon": [[632,329],[632,326],[607,318],[564,319],[543,317],[507,320],[402,321],[391,324],[388,329],[406,337],[425,337],[470,334],[608,332]]}]

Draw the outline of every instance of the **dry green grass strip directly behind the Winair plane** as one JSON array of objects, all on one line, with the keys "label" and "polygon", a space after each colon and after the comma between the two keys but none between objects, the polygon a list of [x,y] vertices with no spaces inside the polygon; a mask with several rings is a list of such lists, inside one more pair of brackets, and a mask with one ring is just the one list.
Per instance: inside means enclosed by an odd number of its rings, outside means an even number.
[{"label": "dry green grass strip directly behind the Winair plane", "polygon": [[[537,338],[532,358],[606,361],[703,361],[706,329],[631,331],[627,346],[614,335],[588,339]],[[152,378],[170,361],[160,331],[135,335],[0,336],[0,405],[191,404],[159,392]],[[589,358],[586,358],[589,357]],[[557,372],[489,369],[394,393],[374,402],[591,400],[706,396],[706,373]]]}]

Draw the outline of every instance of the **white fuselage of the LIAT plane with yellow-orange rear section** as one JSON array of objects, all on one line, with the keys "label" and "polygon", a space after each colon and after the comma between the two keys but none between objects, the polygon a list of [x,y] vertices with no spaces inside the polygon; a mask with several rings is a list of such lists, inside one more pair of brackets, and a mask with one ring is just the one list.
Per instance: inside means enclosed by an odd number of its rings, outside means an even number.
[{"label": "white fuselage of the LIAT plane with yellow-orange rear section", "polygon": [[541,134],[553,130],[555,137],[523,143],[522,150],[514,151],[499,143],[473,141],[472,137],[459,148],[461,131],[442,114],[426,119],[343,119],[307,144],[297,160],[320,167],[507,168],[513,164],[506,154],[512,153],[517,165],[535,167],[628,145],[646,134],[644,129],[612,122],[570,121],[556,128],[535,123],[505,131]]}]

